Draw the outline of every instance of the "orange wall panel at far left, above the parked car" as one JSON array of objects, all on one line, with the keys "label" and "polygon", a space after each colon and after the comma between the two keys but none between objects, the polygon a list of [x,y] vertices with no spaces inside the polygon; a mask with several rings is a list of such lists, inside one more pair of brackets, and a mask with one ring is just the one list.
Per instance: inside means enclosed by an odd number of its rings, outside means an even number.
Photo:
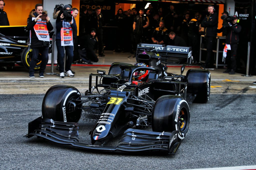
[{"label": "orange wall panel at far left, above the parked car", "polygon": [[42,0],[5,0],[4,11],[7,13],[10,25],[27,25],[27,18],[36,4]]}]

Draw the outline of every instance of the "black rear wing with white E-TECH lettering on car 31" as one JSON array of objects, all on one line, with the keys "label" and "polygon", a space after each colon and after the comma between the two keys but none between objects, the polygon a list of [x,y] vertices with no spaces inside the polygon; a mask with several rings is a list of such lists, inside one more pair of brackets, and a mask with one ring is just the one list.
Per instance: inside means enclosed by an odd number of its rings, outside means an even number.
[{"label": "black rear wing with white E-TECH lettering on car 31", "polygon": [[137,45],[136,59],[137,55],[144,50],[149,51],[155,48],[159,55],[161,56],[161,62],[166,64],[181,64],[187,63],[191,64],[192,60],[192,50],[191,47],[180,47],[172,45],[159,45],[159,44],[145,44],[140,43]]}]

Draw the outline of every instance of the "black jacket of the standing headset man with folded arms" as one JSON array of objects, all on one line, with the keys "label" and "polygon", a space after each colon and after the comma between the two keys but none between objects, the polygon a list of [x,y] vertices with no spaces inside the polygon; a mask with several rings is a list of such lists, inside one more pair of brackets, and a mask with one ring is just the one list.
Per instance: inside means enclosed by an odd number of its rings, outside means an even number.
[{"label": "black jacket of the standing headset man with folded arms", "polygon": [[216,37],[218,28],[218,16],[215,12],[209,16],[205,16],[204,20],[201,22],[201,27],[204,27],[204,34],[206,37]]}]

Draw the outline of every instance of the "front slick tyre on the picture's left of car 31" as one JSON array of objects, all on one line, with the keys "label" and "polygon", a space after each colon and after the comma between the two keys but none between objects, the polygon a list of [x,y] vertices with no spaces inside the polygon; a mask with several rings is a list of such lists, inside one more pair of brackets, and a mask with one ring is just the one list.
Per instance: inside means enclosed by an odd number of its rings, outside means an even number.
[{"label": "front slick tyre on the picture's left of car 31", "polygon": [[78,122],[82,110],[79,109],[80,102],[75,99],[81,99],[78,89],[66,85],[52,86],[44,96],[42,117],[59,122]]}]

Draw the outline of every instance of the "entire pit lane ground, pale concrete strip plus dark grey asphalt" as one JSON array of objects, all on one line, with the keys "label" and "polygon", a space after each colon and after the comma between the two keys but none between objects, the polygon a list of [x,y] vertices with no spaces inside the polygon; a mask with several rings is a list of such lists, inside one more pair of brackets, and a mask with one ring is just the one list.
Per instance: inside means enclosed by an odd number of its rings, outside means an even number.
[{"label": "entire pit lane ground, pale concrete strip plus dark grey asphalt", "polygon": [[[127,62],[134,63],[134,61]],[[109,63],[107,63],[109,64]],[[30,79],[23,67],[0,71],[0,169],[194,169],[256,165],[256,77],[210,70],[211,96],[206,104],[190,104],[187,137],[175,155],[155,152],[92,152],[59,145],[36,137],[26,139],[28,122],[41,115],[45,92],[53,85],[88,89],[89,74],[109,66],[76,66],[75,77],[56,75]],[[199,67],[186,68],[199,69]],[[46,72],[50,72],[47,66]],[[58,72],[54,69],[54,72]],[[179,67],[168,72],[180,73]],[[80,122],[82,142],[89,142],[93,122]],[[109,145],[116,141],[110,141]]]}]

